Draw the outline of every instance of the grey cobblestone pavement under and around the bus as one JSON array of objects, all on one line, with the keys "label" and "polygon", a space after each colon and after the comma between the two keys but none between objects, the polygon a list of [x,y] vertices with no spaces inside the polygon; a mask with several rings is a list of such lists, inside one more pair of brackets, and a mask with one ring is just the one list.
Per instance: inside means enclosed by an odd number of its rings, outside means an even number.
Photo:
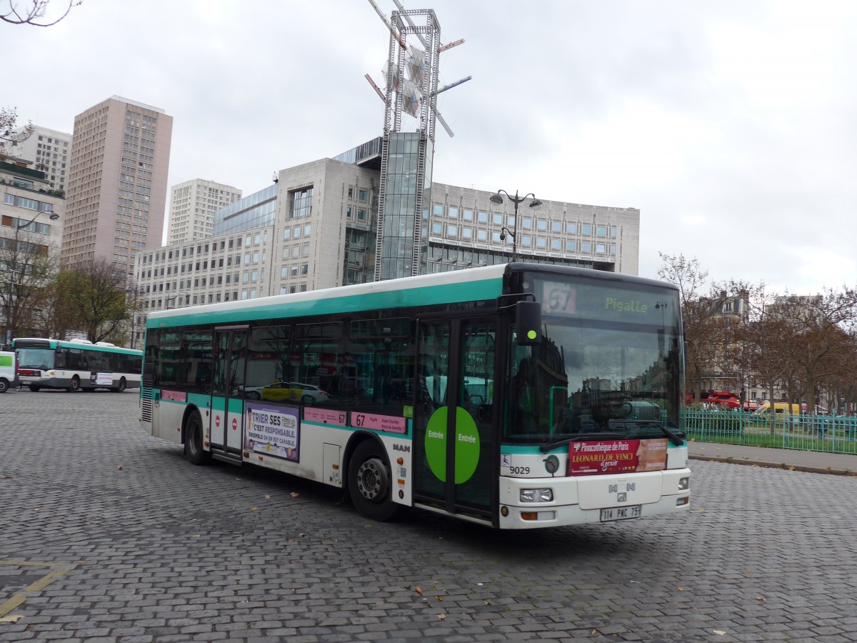
[{"label": "grey cobblestone pavement under and around the bus", "polygon": [[0,641],[857,640],[857,480],[693,461],[686,514],[494,532],[191,466],[137,394],[0,395]]}]

